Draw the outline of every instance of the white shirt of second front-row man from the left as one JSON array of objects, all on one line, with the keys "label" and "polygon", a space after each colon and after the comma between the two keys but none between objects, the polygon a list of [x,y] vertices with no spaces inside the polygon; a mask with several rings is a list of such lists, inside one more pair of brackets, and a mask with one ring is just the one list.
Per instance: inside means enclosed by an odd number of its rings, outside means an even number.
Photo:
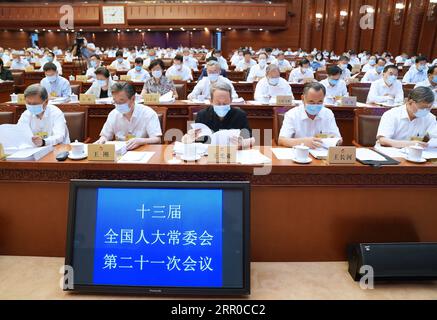
[{"label": "white shirt of second front-row man from the left", "polygon": [[136,138],[162,136],[156,112],[150,107],[135,104],[132,118],[129,121],[116,109],[112,110],[103,125],[100,136],[104,136],[108,140],[125,141],[128,135],[133,135]]}]

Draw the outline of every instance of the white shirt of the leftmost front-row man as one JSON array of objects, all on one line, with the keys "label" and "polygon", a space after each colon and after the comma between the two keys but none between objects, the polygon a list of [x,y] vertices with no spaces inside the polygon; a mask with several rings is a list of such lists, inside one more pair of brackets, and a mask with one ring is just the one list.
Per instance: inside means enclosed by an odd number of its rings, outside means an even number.
[{"label": "white shirt of the leftmost front-row man", "polygon": [[48,146],[54,146],[60,143],[70,143],[70,136],[64,113],[55,105],[47,105],[42,119],[27,110],[24,111],[20,120],[18,120],[18,124],[29,126],[34,135],[43,132],[46,133],[47,138],[44,138],[44,140]]}]

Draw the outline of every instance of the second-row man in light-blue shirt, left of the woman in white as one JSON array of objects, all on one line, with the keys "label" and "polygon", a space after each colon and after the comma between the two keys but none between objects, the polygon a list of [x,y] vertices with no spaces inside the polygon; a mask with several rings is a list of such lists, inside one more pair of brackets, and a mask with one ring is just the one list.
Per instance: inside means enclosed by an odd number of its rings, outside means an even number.
[{"label": "second-row man in light-blue shirt, left of the woman in white", "polygon": [[41,80],[41,85],[46,88],[49,99],[58,97],[69,98],[71,95],[70,82],[58,75],[58,68],[55,64],[47,62],[44,65],[45,78]]}]

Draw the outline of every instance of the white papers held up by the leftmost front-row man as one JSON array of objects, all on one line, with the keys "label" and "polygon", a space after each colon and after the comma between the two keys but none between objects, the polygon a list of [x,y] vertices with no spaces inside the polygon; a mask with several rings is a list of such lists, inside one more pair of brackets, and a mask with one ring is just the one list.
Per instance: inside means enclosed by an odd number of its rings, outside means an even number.
[{"label": "white papers held up by the leftmost front-row man", "polygon": [[29,126],[16,124],[0,125],[0,143],[3,145],[6,154],[8,150],[18,151],[26,148],[34,148],[32,142],[33,133]]}]

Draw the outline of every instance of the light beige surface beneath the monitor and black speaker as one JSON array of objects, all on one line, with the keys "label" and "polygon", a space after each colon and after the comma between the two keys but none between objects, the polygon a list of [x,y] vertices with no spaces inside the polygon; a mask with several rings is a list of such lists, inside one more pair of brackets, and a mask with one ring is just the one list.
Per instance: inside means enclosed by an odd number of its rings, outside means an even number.
[{"label": "light beige surface beneath the monitor and black speaker", "polygon": [[[59,287],[63,265],[63,258],[0,256],[0,299],[171,299],[66,293]],[[362,290],[346,262],[252,263],[251,291],[243,300],[435,300],[437,282],[376,284],[374,290]],[[190,297],[195,298],[205,299]]]}]

